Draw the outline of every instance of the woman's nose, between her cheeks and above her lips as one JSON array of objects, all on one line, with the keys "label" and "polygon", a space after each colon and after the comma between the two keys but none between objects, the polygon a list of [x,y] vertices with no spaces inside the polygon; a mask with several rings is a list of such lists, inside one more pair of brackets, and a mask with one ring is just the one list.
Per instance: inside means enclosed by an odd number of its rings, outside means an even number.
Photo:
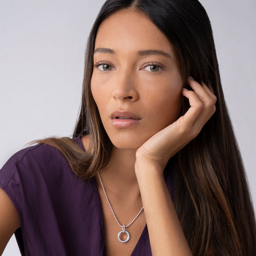
[{"label": "woman's nose, between her cheeks and above her lips", "polygon": [[132,74],[117,74],[115,86],[112,91],[112,97],[114,100],[128,100],[137,101],[139,98],[135,77]]}]

